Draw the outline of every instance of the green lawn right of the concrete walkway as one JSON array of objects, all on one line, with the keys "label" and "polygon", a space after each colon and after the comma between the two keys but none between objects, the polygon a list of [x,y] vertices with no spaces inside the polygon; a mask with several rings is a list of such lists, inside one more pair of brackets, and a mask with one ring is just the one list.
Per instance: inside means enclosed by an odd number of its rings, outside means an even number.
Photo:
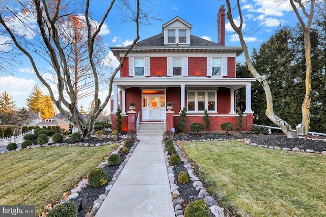
[{"label": "green lawn right of the concrete walkway", "polygon": [[238,141],[182,144],[210,191],[242,216],[326,216],[326,156]]}]

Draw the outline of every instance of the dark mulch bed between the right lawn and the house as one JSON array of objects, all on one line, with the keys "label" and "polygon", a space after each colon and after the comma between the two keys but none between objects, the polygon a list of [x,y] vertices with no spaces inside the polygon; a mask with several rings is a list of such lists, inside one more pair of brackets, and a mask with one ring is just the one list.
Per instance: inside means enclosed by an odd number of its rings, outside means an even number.
[{"label": "dark mulch bed between the right lawn and the house", "polygon": [[[326,151],[326,142],[318,139],[325,139],[322,136],[306,136],[306,139],[288,139],[284,134],[270,134],[270,135],[260,135],[252,133],[243,134],[221,134],[221,133],[201,133],[196,136],[195,133],[189,134],[175,134],[174,140],[200,140],[200,139],[251,139],[251,143],[257,143],[258,145],[268,145],[268,146],[279,146],[281,148],[294,148],[298,147],[300,149],[311,149],[314,151]],[[317,139],[317,140],[316,140]]]}]

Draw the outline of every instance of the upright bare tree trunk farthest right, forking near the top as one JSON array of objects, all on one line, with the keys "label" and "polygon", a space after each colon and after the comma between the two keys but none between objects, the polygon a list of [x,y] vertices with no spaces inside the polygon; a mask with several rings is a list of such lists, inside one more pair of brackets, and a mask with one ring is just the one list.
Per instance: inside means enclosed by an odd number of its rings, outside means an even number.
[{"label": "upright bare tree trunk farthest right, forking near the top", "polygon": [[[309,5],[310,2],[310,5]],[[312,24],[312,19],[314,15],[314,5],[315,0],[309,0],[308,3],[302,2],[301,0],[290,0],[292,9],[299,20],[302,30],[304,32],[304,42],[305,42],[305,58],[306,58],[306,79],[305,79],[305,98],[302,103],[302,122],[304,126],[304,133],[308,135],[309,125],[310,125],[310,103],[311,103],[311,44],[310,44],[310,29]],[[305,6],[305,3],[307,5]],[[298,8],[302,10],[303,16],[299,13]],[[310,10],[310,12],[308,11]],[[309,12],[309,13],[308,13]],[[306,19],[306,22],[305,20]]]}]

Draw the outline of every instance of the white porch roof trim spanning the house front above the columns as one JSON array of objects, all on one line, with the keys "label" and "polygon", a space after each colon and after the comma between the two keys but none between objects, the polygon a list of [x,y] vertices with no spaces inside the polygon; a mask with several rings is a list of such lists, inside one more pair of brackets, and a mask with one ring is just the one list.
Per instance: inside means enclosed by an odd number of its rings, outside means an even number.
[{"label": "white porch roof trim spanning the house front above the columns", "polygon": [[121,89],[130,87],[166,88],[166,87],[228,87],[236,90],[255,81],[255,78],[206,78],[206,77],[132,77],[115,78],[114,84]]}]

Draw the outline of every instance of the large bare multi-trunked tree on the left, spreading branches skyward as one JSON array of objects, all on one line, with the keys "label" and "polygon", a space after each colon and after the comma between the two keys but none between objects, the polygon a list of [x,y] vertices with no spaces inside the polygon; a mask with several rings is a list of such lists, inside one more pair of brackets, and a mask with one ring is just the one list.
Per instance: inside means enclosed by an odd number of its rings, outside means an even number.
[{"label": "large bare multi-trunked tree on the left, spreading branches skyward", "polygon": [[[16,7],[20,8],[26,13],[17,13],[17,10],[8,10],[8,14],[0,14],[0,23],[6,29],[10,38],[13,40],[15,46],[24,53],[31,61],[36,76],[42,82],[42,84],[48,89],[51,100],[58,107],[59,111],[63,113],[66,118],[73,122],[78,128],[78,131],[82,133],[83,138],[89,137],[89,133],[92,130],[92,124],[95,118],[101,113],[104,107],[107,105],[112,94],[112,83],[115,75],[121,69],[126,59],[127,54],[133,48],[134,44],[139,40],[139,18],[148,18],[147,13],[142,13],[140,10],[140,1],[137,0],[135,5],[127,5],[127,9],[131,13],[130,16],[124,13],[124,16],[129,17],[135,23],[135,39],[129,46],[127,51],[122,55],[119,66],[114,70],[112,76],[108,82],[107,95],[103,102],[99,99],[99,77],[97,74],[97,66],[94,58],[94,45],[96,44],[96,38],[100,34],[101,28],[104,22],[107,20],[112,8],[116,5],[116,1],[113,0],[110,4],[103,3],[102,8],[105,6],[105,10],[102,18],[96,22],[91,19],[90,15],[90,0],[84,2],[78,2],[77,5],[73,5],[73,2],[61,0],[47,1],[47,0],[33,0],[29,2],[17,1]],[[133,4],[133,2],[124,2]],[[87,27],[87,51],[89,63],[91,66],[91,73],[93,79],[93,100],[94,109],[91,114],[85,119],[76,107],[76,94],[74,91],[74,82],[72,81],[69,70],[69,59],[66,55],[66,44],[63,39],[63,23],[72,16],[83,14],[85,16],[85,22]],[[97,14],[99,16],[99,14]],[[28,29],[28,33],[33,33],[33,39],[28,40],[24,38],[24,35],[18,35],[15,26],[12,26],[10,22],[6,20],[6,17],[13,17],[24,29]],[[33,24],[33,25],[32,25]],[[33,29],[36,26],[36,29]],[[39,34],[38,34],[39,33]],[[56,88],[53,88],[50,83],[42,77],[41,66],[38,65],[37,58],[42,57],[47,61],[56,75]],[[69,111],[67,111],[68,109]]]}]

